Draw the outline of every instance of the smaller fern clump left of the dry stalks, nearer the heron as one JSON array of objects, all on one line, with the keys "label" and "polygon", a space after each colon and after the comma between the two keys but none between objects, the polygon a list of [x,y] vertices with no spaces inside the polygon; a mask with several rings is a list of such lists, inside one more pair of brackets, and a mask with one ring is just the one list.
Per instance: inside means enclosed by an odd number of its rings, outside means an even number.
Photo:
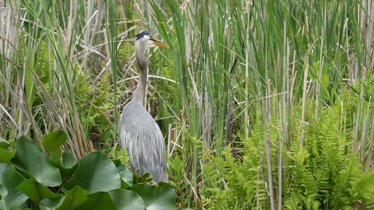
[{"label": "smaller fern clump left of the dry stalks, nearer the heron", "polygon": [[[240,137],[244,139],[242,135]],[[203,152],[201,152],[203,160],[211,160],[203,166],[205,169],[203,173],[208,175],[206,176],[206,182],[210,182],[211,179],[214,180],[215,176],[222,176],[219,180],[225,180],[226,182],[223,185],[224,190],[221,190],[219,187],[207,188],[207,186],[212,185],[206,185],[202,189],[206,197],[213,198],[205,200],[206,204],[209,204],[209,209],[221,209],[221,207],[223,209],[230,209],[230,207],[251,209],[250,201],[252,198],[256,197],[259,201],[267,199],[265,183],[262,180],[257,180],[260,155],[253,140],[243,140],[246,155],[242,157],[242,162],[238,162],[234,158],[231,151],[231,144],[224,148],[224,159],[212,158],[209,151],[203,148]],[[217,186],[217,183],[215,186]]]}]

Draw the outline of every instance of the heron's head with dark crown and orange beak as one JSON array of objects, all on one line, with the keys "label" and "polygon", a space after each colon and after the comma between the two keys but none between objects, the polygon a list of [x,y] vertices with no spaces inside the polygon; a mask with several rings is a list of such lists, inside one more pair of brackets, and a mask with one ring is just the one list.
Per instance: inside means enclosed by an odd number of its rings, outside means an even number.
[{"label": "heron's head with dark crown and orange beak", "polygon": [[154,46],[169,48],[168,45],[154,37],[149,31],[139,31],[134,38],[135,49],[148,49]]}]

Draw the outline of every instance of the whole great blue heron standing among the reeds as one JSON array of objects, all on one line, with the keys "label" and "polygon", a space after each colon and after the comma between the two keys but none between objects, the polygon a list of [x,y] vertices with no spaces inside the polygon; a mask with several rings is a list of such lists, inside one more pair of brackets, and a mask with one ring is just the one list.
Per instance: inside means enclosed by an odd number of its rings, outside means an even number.
[{"label": "whole great blue heron standing among the reeds", "polygon": [[[165,179],[165,143],[159,126],[144,108],[147,63],[145,50],[154,46],[169,48],[149,31],[134,36],[135,54],[140,69],[137,89],[125,105],[118,122],[119,146],[125,146],[130,156],[132,173],[150,173],[155,182]],[[127,38],[127,37],[126,37]],[[139,169],[139,170],[137,170]]]}]

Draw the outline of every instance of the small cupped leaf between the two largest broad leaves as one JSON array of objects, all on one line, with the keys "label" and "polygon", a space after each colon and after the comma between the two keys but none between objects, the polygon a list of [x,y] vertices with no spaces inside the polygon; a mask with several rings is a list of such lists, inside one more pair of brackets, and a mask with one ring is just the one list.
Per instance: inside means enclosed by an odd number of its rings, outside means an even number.
[{"label": "small cupped leaf between the two largest broad leaves", "polygon": [[71,154],[67,150],[62,152],[61,160],[56,160],[56,157],[51,154],[51,161],[53,165],[55,167],[58,167],[58,169],[60,170],[62,179],[66,179],[67,177],[73,175],[73,173],[78,168],[78,161],[75,160],[73,154]]}]

